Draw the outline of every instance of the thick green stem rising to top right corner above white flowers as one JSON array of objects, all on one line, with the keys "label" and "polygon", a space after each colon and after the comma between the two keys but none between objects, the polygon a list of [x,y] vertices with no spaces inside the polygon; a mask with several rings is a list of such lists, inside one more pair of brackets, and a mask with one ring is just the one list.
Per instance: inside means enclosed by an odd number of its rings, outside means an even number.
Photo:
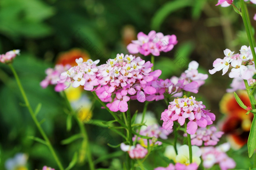
[{"label": "thick green stem rising to top right corner above white flowers", "polygon": [[[252,50],[253,61],[256,61],[256,53],[255,53],[255,49],[254,49],[255,39],[252,35],[252,29],[251,29],[252,26],[251,26],[251,21],[250,21],[250,18],[249,18],[248,9],[246,7],[246,4],[245,4],[244,0],[240,0],[240,3],[241,3],[241,16],[242,16],[242,20],[244,22],[244,27],[245,27],[245,30],[246,30],[249,45],[250,45],[251,50]],[[256,68],[256,65],[255,65],[255,68]]]}]

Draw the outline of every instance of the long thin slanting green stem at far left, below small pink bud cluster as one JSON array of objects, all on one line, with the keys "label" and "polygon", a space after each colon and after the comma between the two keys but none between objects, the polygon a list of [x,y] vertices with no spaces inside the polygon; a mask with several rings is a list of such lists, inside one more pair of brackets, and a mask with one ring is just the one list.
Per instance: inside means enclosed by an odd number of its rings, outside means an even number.
[{"label": "long thin slanting green stem at far left, below small pink bud cluster", "polygon": [[20,83],[18,74],[16,73],[16,71],[15,71],[15,69],[14,69],[14,67],[12,66],[11,63],[8,64],[8,65],[10,66],[10,68],[11,68],[11,70],[12,70],[12,73],[14,74],[14,77],[15,77],[16,82],[17,82],[17,84],[18,84],[19,90],[20,90],[20,92],[21,92],[21,94],[22,94],[22,97],[23,97],[23,99],[24,99],[24,101],[25,101],[26,107],[28,108],[31,117],[32,117],[33,121],[35,122],[35,125],[37,126],[39,132],[41,133],[42,137],[44,138],[44,140],[45,140],[45,142],[46,142],[46,145],[48,146],[50,152],[51,152],[52,155],[53,155],[53,158],[55,159],[57,165],[59,166],[59,169],[60,169],[60,170],[64,170],[64,168],[63,168],[63,166],[62,166],[62,164],[61,164],[59,158],[57,157],[57,154],[55,153],[55,151],[54,151],[54,149],[53,149],[53,147],[52,147],[52,144],[50,143],[50,140],[49,140],[48,137],[46,136],[44,130],[42,129],[40,123],[39,123],[38,120],[37,120],[37,117],[35,116],[35,113],[34,113],[33,109],[31,108],[31,105],[30,105],[30,103],[29,103],[29,100],[27,99],[27,96],[26,96],[26,93],[25,93],[25,91],[24,91],[24,89],[23,89],[23,86],[22,86],[22,84]]}]

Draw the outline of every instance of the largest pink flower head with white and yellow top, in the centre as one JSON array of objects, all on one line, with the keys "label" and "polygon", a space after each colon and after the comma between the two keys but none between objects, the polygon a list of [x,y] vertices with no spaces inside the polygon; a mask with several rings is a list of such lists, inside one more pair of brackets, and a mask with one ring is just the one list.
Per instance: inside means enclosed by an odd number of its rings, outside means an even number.
[{"label": "largest pink flower head with white and yellow top, in the centre", "polygon": [[100,92],[96,90],[98,97],[102,101],[108,101],[112,94],[116,94],[113,102],[108,104],[113,112],[127,111],[127,101],[130,98],[146,101],[147,95],[156,92],[151,82],[161,74],[161,70],[151,72],[152,66],[152,63],[145,62],[140,57],[117,54],[115,59],[109,59],[106,64],[98,66],[96,76],[101,86]]}]

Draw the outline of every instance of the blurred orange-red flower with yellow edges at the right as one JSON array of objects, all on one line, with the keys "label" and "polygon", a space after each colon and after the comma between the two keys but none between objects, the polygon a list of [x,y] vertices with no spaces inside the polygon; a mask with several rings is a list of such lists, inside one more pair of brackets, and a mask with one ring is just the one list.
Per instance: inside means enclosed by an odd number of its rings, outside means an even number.
[{"label": "blurred orange-red flower with yellow edges at the right", "polygon": [[[238,91],[237,95],[247,107],[251,107],[245,90]],[[246,110],[238,105],[233,93],[226,93],[219,104],[221,112],[226,114],[222,122],[222,131],[227,135],[231,146],[234,149],[239,149],[247,143],[253,114],[245,114]]]}]

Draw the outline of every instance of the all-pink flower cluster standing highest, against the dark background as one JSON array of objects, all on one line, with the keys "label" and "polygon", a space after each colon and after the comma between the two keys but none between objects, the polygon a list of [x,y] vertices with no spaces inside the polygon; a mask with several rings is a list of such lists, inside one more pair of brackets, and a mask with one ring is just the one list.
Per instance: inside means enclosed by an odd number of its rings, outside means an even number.
[{"label": "all-pink flower cluster standing highest, against the dark background", "polygon": [[160,55],[160,52],[168,52],[173,49],[177,44],[177,38],[175,35],[163,35],[161,32],[150,31],[148,35],[143,32],[139,32],[137,35],[138,40],[132,40],[127,46],[129,53],[140,53],[143,55],[154,56]]}]

